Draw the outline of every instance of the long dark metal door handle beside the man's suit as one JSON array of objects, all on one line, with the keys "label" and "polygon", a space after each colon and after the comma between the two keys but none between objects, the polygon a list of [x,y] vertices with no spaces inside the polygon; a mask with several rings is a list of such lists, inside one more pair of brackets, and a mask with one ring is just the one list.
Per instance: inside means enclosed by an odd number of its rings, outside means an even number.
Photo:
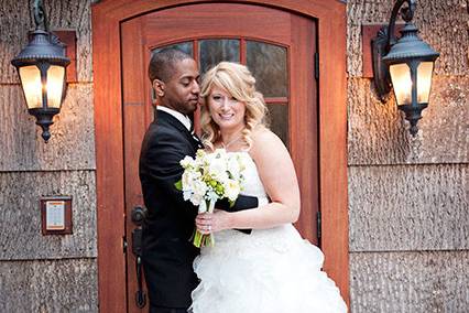
[{"label": "long dark metal door handle beside the man's suit", "polygon": [[142,271],[142,225],[146,218],[146,208],[135,206],[131,213],[131,219],[137,228],[132,230],[132,253],[135,256],[135,272],[138,289],[135,292],[135,304],[142,309],[146,304],[146,294],[143,291],[143,271]]}]

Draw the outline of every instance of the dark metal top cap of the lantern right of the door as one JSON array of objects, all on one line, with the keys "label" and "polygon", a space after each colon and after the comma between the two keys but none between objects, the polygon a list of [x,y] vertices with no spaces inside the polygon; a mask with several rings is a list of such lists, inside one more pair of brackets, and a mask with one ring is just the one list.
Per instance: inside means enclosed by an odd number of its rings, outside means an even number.
[{"label": "dark metal top cap of the lantern right of the door", "polygon": [[434,62],[439,56],[439,53],[419,39],[417,33],[417,28],[412,22],[407,22],[401,30],[402,36],[391,46],[390,52],[383,57],[384,63],[390,65],[394,63],[405,63],[406,61],[416,58]]}]

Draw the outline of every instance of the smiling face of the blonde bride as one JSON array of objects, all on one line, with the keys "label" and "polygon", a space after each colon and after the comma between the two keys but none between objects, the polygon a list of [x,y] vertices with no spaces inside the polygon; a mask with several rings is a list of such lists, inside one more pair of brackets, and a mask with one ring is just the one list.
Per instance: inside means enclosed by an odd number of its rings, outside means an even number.
[{"label": "smiling face of the blonde bride", "polygon": [[246,105],[234,99],[225,89],[214,87],[208,96],[208,110],[220,130],[244,126]]}]

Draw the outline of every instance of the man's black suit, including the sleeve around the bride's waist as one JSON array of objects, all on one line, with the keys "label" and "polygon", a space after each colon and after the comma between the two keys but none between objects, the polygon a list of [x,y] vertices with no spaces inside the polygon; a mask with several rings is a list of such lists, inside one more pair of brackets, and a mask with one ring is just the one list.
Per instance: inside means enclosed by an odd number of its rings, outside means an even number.
[{"label": "man's black suit, including the sleeve around the bride's waist", "polygon": [[[198,249],[189,240],[197,207],[183,198],[174,184],[181,180],[179,161],[203,148],[172,115],[157,110],[140,153],[140,181],[148,217],[143,225],[142,261],[150,303],[188,307],[198,280],[193,271]],[[255,197],[238,198],[239,211],[258,206]]]}]

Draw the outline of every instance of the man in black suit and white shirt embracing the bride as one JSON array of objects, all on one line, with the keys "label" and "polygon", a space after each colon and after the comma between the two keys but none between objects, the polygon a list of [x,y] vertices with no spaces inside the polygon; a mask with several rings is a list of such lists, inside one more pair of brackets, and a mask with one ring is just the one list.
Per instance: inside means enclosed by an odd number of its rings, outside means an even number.
[{"label": "man in black suit and white shirt embracing the bride", "polygon": [[[198,249],[189,240],[197,207],[185,202],[174,184],[179,161],[203,145],[192,133],[188,116],[199,101],[199,73],[187,54],[167,48],[154,54],[149,76],[156,95],[155,119],[146,130],[140,153],[140,181],[148,217],[143,227],[142,260],[151,313],[183,313],[198,280],[193,261]],[[233,208],[258,206],[258,198],[240,196]]]}]

